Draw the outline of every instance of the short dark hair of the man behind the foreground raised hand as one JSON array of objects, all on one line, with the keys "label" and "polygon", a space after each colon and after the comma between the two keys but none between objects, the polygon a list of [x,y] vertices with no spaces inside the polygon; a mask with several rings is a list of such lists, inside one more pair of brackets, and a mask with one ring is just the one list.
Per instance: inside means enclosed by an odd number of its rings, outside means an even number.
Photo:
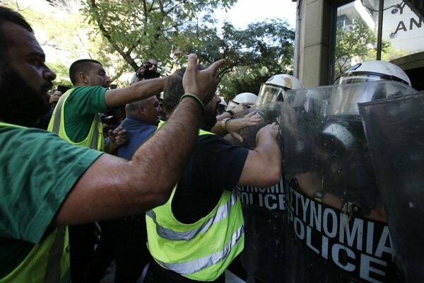
[{"label": "short dark hair of the man behind the foreground raised hand", "polygon": [[[198,70],[204,70],[201,64],[197,65]],[[167,77],[165,87],[163,88],[163,108],[165,112],[170,113],[177,107],[179,98],[184,94],[184,87],[182,86],[182,77],[184,76],[186,68],[178,69],[171,76]]]}]

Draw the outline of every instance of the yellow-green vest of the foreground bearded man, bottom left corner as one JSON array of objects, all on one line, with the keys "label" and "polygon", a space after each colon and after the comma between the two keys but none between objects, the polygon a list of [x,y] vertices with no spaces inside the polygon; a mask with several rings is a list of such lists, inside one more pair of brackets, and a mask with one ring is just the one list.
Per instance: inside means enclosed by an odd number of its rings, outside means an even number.
[{"label": "yellow-green vest of the foreground bearded man, bottom left corner", "polygon": [[[0,122],[0,127],[20,127]],[[20,127],[23,128],[23,127]],[[0,283],[13,282],[71,282],[69,275],[69,246],[67,227],[57,227],[28,253],[13,272]]]}]

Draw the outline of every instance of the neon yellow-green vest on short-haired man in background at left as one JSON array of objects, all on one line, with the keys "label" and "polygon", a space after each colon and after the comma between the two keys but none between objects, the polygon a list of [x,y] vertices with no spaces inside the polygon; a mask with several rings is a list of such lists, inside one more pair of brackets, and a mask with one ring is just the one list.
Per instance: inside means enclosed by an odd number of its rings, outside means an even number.
[{"label": "neon yellow-green vest on short-haired man in background at left", "polygon": [[88,133],[86,139],[80,142],[73,142],[71,139],[69,139],[68,135],[66,134],[65,129],[65,101],[68,99],[68,97],[71,95],[73,91],[73,88],[71,88],[69,91],[66,91],[63,96],[59,99],[59,102],[56,105],[56,108],[54,108],[52,118],[49,122],[49,127],[47,127],[47,130],[50,132],[55,132],[61,137],[62,139],[68,141],[70,144],[74,144],[76,146],[86,146],[90,149],[97,149],[99,151],[104,151],[105,149],[105,140],[103,138],[103,126],[102,122],[100,120],[100,114],[96,114],[93,117],[93,122],[91,123],[90,132]]}]

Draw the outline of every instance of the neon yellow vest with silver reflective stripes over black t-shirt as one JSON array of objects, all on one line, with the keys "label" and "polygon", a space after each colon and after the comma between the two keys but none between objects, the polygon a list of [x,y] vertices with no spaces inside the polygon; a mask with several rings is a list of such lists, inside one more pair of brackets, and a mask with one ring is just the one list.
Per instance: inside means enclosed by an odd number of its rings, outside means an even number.
[{"label": "neon yellow vest with silver reflective stripes over black t-shirt", "polygon": [[[161,125],[159,125],[160,127]],[[199,135],[212,134],[199,131]],[[204,218],[182,224],[167,203],[146,212],[148,249],[159,265],[189,279],[212,281],[225,272],[245,245],[245,226],[237,191],[223,191]]]}]

